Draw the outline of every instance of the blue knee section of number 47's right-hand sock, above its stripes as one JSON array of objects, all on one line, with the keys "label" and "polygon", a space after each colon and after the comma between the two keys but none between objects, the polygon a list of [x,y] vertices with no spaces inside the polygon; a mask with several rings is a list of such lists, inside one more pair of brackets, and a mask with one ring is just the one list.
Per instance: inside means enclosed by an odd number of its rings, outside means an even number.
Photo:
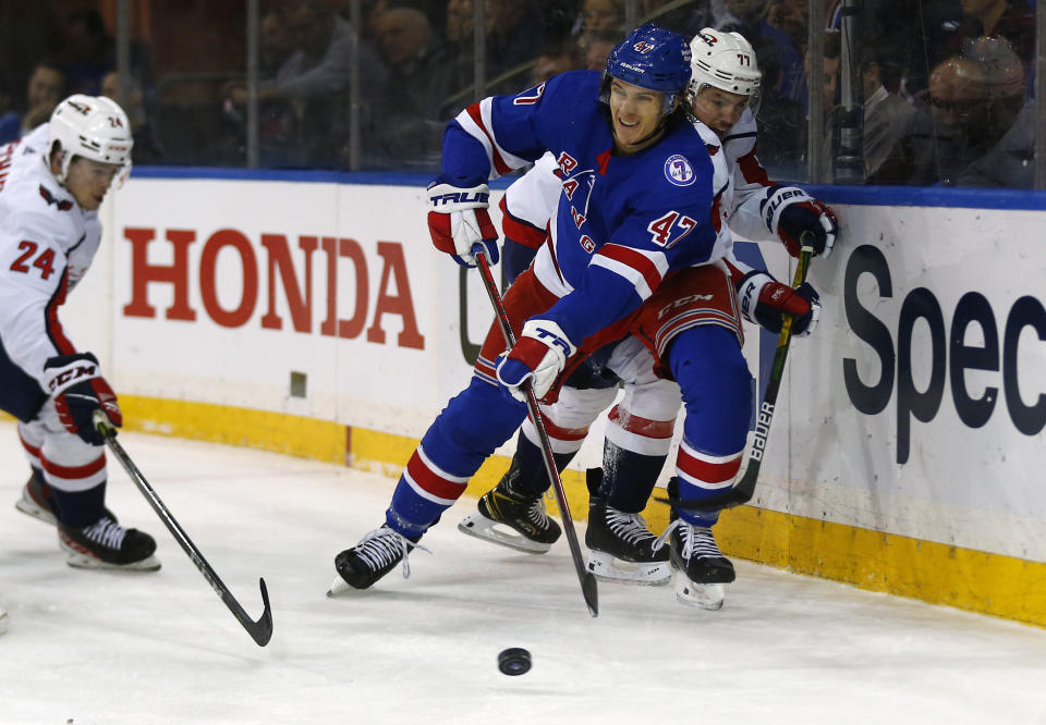
[{"label": "blue knee section of number 47's right-hand sock, above its stripes", "polygon": [[752,376],[733,333],[717,325],[686,330],[672,343],[669,364],[686,407],[686,440],[710,454],[743,448]]}]

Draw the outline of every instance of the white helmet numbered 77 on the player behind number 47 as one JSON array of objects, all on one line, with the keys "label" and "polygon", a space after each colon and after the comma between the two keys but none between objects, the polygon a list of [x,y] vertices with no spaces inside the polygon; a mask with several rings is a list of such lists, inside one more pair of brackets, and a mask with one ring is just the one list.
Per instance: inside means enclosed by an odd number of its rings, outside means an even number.
[{"label": "white helmet numbered 77 on the player behind number 47", "polygon": [[693,102],[705,86],[754,100],[763,74],[752,44],[740,33],[706,27],[690,41],[691,78],[686,98]]}]

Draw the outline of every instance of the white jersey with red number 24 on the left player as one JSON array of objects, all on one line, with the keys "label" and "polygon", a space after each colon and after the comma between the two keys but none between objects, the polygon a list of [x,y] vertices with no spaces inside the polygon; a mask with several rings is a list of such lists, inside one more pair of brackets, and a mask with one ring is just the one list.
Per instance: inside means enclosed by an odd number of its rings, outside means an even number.
[{"label": "white jersey with red number 24 on the left player", "polygon": [[47,126],[0,148],[0,343],[44,390],[47,359],[76,352],[58,307],[101,241],[98,212],[82,209],[47,165]]}]

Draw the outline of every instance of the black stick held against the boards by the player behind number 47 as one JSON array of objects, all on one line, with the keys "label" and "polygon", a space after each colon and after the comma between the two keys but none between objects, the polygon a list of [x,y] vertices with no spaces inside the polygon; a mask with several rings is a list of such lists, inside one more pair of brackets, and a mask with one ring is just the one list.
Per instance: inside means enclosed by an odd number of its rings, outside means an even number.
[{"label": "black stick held against the boards by the player behind number 47", "polygon": [[[798,287],[805,282],[806,272],[810,271],[810,258],[814,254],[814,248],[806,244],[808,234],[810,232],[803,232],[800,239],[803,246],[800,250],[799,267],[795,268],[792,287]],[[770,368],[770,380],[766,384],[766,395],[763,396],[763,405],[759,407],[756,417],[755,438],[752,439],[752,447],[749,448],[749,466],[744,469],[744,476],[741,477],[737,486],[705,499],[657,497],[656,501],[686,511],[715,512],[740,506],[752,499],[752,494],[755,493],[756,481],[759,478],[763,453],[766,451],[766,437],[769,434],[770,423],[774,421],[774,406],[777,405],[777,392],[781,386],[781,378],[784,373],[788,346],[792,341],[792,319],[790,315],[784,315],[784,320],[781,323],[781,333],[777,339],[777,353],[774,355],[774,367]]]}]

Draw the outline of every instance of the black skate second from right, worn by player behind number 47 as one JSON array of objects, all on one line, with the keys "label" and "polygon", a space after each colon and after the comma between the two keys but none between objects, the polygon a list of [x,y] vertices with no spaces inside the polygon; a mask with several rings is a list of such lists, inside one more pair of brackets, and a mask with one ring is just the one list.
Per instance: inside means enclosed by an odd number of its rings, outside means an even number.
[{"label": "black skate second from right, worn by player behind number 47", "polygon": [[585,531],[589,572],[604,581],[657,586],[672,577],[668,548],[638,514],[625,514],[595,499]]}]

